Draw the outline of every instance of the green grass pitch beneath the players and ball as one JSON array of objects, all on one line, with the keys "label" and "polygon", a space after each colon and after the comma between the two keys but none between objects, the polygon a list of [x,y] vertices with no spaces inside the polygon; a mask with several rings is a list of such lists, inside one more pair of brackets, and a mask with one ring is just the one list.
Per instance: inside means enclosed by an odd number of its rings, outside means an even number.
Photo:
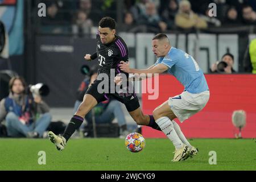
[{"label": "green grass pitch beneath the players and ball", "polygon": [[[57,151],[48,139],[0,139],[0,170],[256,170],[254,139],[193,139],[199,154],[182,162],[171,162],[168,139],[146,139],[138,153],[125,148],[118,138],[70,139]],[[39,151],[46,152],[46,164],[39,165]],[[216,151],[217,164],[209,164]]]}]

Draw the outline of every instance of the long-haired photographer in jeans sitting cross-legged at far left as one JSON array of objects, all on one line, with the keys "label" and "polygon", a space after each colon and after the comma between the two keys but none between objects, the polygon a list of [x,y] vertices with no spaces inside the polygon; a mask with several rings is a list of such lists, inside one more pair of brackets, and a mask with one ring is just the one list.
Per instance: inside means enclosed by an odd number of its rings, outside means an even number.
[{"label": "long-haired photographer in jeans sitting cross-legged at far left", "polygon": [[22,77],[13,77],[9,82],[9,96],[0,102],[0,122],[6,120],[9,137],[39,138],[43,136],[51,115],[42,98],[26,93],[26,82]]}]

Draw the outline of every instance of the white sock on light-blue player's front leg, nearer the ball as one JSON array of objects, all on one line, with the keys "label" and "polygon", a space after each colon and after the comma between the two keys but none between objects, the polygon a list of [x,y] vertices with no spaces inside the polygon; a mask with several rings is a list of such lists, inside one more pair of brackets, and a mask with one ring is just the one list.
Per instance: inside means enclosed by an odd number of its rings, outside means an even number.
[{"label": "white sock on light-blue player's front leg, nearer the ball", "polygon": [[163,133],[166,134],[166,136],[172,141],[176,150],[183,147],[183,142],[181,142],[179,136],[174,129],[174,124],[168,117],[161,117],[159,119],[156,119],[155,122],[158,123],[158,126],[163,131]]}]

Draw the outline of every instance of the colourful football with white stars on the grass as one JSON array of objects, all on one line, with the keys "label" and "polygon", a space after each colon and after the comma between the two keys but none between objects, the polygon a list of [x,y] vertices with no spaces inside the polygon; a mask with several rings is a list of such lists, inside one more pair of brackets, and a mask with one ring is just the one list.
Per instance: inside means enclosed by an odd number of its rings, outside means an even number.
[{"label": "colourful football with white stars on the grass", "polygon": [[125,138],[125,146],[131,152],[139,152],[145,147],[145,139],[142,134],[130,133]]}]

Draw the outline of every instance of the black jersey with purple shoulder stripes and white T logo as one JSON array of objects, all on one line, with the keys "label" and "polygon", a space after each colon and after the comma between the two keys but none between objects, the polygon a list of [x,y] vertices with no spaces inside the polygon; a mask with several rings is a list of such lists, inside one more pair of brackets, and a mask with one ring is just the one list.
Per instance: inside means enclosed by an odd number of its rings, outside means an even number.
[{"label": "black jersey with purple shoulder stripes and white T logo", "polygon": [[[126,43],[121,37],[115,35],[115,40],[109,44],[102,44],[100,34],[97,34],[97,57],[98,57],[98,74],[106,73],[110,78],[110,69],[114,69],[115,76],[118,73],[122,72],[118,65],[120,61],[127,61],[128,57],[128,48]],[[125,73],[129,76],[129,73]]]}]

